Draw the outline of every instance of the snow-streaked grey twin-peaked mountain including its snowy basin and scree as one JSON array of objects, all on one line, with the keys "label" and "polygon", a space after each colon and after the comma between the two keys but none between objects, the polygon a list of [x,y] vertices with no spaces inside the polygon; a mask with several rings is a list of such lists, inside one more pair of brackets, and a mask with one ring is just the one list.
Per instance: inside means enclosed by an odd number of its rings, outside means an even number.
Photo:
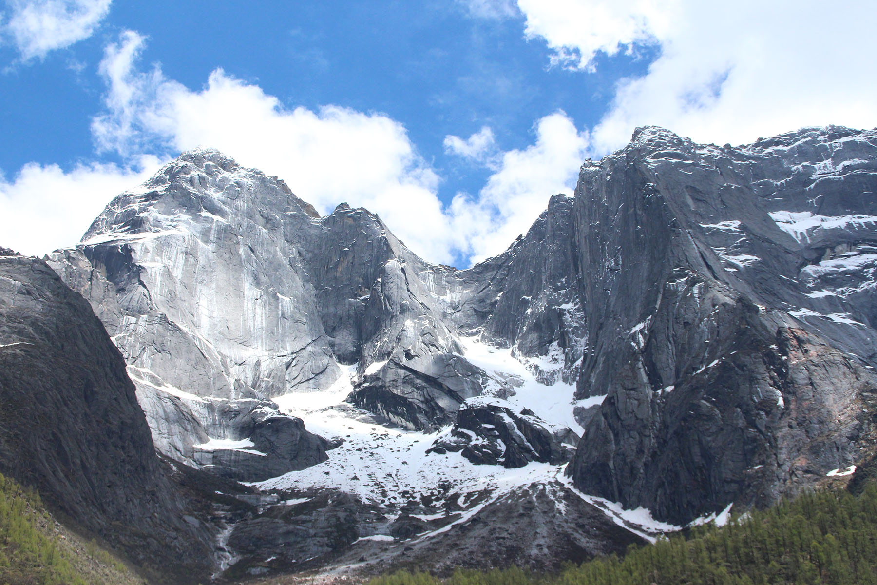
[{"label": "snow-streaked grey twin-peaked mountain including its snowy basin and scree", "polygon": [[875,188],[875,131],[645,127],[457,270],[199,149],[49,264],[160,453],[258,490],[227,575],[553,568],[873,451]]}]

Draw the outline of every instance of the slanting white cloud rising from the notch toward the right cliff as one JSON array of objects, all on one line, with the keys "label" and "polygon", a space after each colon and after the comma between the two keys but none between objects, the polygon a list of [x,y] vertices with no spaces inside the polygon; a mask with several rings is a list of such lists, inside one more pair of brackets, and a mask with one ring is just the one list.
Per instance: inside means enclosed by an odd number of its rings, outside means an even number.
[{"label": "slanting white cloud rising from the notch toward the right cliff", "polygon": [[550,196],[575,188],[587,133],[578,132],[562,111],[541,118],[535,130],[534,145],[502,154],[478,199],[453,199],[454,232],[466,234],[460,245],[474,261],[501,253],[530,228]]}]

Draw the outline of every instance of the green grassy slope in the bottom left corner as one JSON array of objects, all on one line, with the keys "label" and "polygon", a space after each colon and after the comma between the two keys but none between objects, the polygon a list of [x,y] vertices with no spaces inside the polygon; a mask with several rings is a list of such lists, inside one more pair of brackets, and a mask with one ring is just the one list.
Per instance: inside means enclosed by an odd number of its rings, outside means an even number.
[{"label": "green grassy slope in the bottom left corner", "polygon": [[39,495],[0,474],[0,583],[134,585],[144,583],[94,542],[54,521]]}]

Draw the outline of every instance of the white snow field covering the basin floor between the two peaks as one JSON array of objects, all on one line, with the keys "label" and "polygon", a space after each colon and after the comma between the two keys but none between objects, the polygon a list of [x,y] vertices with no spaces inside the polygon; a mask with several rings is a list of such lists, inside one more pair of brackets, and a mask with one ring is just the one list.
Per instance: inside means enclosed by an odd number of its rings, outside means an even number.
[{"label": "white snow field covering the basin floor between the two peaks", "polygon": [[[517,378],[521,383],[509,402],[533,410],[549,424],[565,424],[581,433],[581,426],[573,417],[574,406],[602,402],[604,396],[574,401],[573,385],[558,382],[545,386],[537,382],[528,368],[512,357],[509,349],[488,346],[474,338],[461,339],[461,342],[467,360],[491,375],[496,373],[503,379],[509,375]],[[534,462],[526,467],[506,469],[474,465],[460,453],[426,453],[433,441],[450,432],[451,427],[427,433],[375,424],[367,412],[345,402],[353,389],[356,366],[342,369],[346,371],[330,389],[275,398],[282,412],[302,418],[309,431],[327,439],[344,439],[341,446],[327,452],[329,460],[323,463],[251,485],[261,490],[289,491],[292,495],[312,489],[339,489],[359,496],[363,502],[384,507],[390,516],[393,510],[422,495],[433,496],[439,508],[443,499],[453,497],[454,503],[463,511],[417,516],[424,520],[447,517],[449,521],[436,530],[418,535],[418,540],[451,530],[453,525],[464,524],[490,503],[532,483],[552,483],[560,489],[568,489],[603,510],[617,524],[646,539],[653,540],[663,532],[681,529],[654,520],[644,508],[624,510],[617,503],[582,494],[565,476],[566,465]],[[716,513],[703,521],[711,521],[717,516],[722,515]],[[368,538],[379,537],[381,535]]]}]

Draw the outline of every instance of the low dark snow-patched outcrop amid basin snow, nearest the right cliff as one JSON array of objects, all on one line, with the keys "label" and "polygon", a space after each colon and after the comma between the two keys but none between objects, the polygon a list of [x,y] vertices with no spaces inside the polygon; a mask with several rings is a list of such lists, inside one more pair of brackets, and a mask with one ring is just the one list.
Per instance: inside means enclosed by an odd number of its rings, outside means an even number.
[{"label": "low dark snow-patched outcrop amid basin snow, nearest the right cliff", "polygon": [[568,427],[547,424],[531,411],[515,412],[496,398],[474,398],[463,403],[451,432],[436,439],[427,453],[461,452],[476,465],[560,465],[572,459],[578,439]]}]

